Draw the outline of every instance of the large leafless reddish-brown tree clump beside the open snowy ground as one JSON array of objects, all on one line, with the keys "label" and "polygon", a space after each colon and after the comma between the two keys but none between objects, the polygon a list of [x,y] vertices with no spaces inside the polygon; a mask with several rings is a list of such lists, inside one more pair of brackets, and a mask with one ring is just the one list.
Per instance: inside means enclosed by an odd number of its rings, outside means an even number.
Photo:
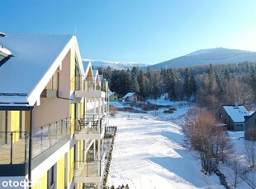
[{"label": "large leafless reddish-brown tree clump beside the open snowy ground", "polygon": [[211,174],[218,168],[220,160],[225,161],[232,149],[229,137],[222,127],[216,125],[213,114],[206,110],[192,108],[187,113],[186,121],[187,139],[200,156],[202,170]]}]

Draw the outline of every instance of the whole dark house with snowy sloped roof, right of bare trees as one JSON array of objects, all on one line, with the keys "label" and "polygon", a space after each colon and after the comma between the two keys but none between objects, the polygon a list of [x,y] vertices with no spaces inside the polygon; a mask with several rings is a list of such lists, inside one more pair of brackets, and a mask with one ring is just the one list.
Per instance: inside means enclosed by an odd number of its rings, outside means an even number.
[{"label": "whole dark house with snowy sloped roof, right of bare trees", "polygon": [[244,117],[249,115],[242,105],[222,105],[216,112],[216,118],[219,118],[230,131],[244,131]]}]

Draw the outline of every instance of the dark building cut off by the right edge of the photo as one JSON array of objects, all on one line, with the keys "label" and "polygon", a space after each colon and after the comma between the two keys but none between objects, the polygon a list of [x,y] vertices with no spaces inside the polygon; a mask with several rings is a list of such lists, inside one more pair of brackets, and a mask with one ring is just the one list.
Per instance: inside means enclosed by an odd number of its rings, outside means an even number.
[{"label": "dark building cut off by the right edge of the photo", "polygon": [[244,139],[246,141],[256,141],[256,112],[245,117]]}]

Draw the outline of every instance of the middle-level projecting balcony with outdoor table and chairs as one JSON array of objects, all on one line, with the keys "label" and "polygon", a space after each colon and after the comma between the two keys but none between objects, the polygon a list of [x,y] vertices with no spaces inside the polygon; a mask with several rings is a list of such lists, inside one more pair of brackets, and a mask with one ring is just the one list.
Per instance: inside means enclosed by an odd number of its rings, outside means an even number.
[{"label": "middle-level projecting balcony with outdoor table and chairs", "polygon": [[107,118],[98,114],[87,114],[84,118],[76,119],[75,140],[101,140],[107,127]]}]

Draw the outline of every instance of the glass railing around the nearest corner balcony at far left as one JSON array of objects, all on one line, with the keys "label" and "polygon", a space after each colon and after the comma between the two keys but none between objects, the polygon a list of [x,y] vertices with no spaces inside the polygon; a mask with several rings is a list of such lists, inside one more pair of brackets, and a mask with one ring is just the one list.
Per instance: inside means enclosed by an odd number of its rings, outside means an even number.
[{"label": "glass railing around the nearest corner balcony at far left", "polygon": [[[32,132],[32,158],[70,134],[70,119],[51,122]],[[29,132],[0,131],[0,164],[24,164],[28,160]]]}]

